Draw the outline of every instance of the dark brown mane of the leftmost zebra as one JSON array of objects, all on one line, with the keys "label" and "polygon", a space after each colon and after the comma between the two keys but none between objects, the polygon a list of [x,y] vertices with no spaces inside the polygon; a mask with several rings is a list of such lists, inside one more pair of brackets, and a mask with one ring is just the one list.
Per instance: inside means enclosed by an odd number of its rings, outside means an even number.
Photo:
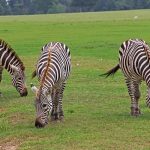
[{"label": "dark brown mane of the leftmost zebra", "polygon": [[17,53],[11,48],[10,45],[8,45],[8,43],[6,43],[4,40],[0,39],[0,44],[4,47],[4,50],[8,50],[8,52],[11,52],[13,56],[15,56],[15,58],[19,61],[20,63],[20,67],[21,70],[24,71],[25,67],[23,65],[23,62],[21,61],[21,59],[19,58],[19,56],[17,55]]}]

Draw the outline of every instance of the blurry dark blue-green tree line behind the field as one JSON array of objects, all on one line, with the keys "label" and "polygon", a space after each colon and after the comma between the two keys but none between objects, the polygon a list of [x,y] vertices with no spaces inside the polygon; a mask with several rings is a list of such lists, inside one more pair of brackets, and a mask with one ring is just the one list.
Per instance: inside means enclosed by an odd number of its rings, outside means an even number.
[{"label": "blurry dark blue-green tree line behind the field", "polygon": [[150,8],[150,0],[0,0],[0,15]]}]

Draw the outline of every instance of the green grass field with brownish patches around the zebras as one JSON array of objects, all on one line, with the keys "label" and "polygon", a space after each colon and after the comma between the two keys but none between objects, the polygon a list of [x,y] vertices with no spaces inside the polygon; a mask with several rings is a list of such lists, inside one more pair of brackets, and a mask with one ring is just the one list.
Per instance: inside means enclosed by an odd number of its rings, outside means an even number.
[{"label": "green grass field with brownish patches around the zebras", "polygon": [[[130,116],[130,98],[121,71],[99,75],[118,63],[118,48],[129,38],[150,41],[150,10],[1,16],[0,37],[26,66],[28,96],[19,97],[4,71],[0,91],[0,149],[101,150],[149,149],[150,109],[141,85],[140,117]],[[50,41],[68,45],[72,72],[63,98],[64,121],[34,126],[30,83],[41,47]]]}]

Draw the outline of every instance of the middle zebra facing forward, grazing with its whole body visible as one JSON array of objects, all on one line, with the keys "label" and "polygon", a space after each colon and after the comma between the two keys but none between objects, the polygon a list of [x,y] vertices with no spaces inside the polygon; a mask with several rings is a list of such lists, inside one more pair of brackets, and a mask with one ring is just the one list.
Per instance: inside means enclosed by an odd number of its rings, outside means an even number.
[{"label": "middle zebra facing forward, grazing with its whole body visible", "polygon": [[37,128],[48,123],[48,115],[52,120],[63,119],[62,98],[66,80],[70,74],[71,55],[69,48],[59,42],[50,42],[43,46],[41,56],[36,65],[40,87],[37,89],[31,84],[31,89],[36,93],[35,107]]}]

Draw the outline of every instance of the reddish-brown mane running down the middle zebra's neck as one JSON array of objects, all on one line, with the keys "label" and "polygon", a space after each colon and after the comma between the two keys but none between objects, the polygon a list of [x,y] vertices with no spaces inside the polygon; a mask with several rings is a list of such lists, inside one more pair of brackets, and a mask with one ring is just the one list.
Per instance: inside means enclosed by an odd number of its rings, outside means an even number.
[{"label": "reddish-brown mane running down the middle zebra's neck", "polygon": [[46,80],[46,77],[47,77],[47,73],[48,73],[48,68],[50,66],[50,62],[51,62],[51,52],[50,52],[50,48],[48,49],[48,60],[47,60],[47,64],[46,64],[46,68],[44,70],[44,73],[41,77],[41,81],[40,81],[40,89],[39,91],[42,90],[42,87],[43,87],[43,84],[44,84],[44,81]]}]

